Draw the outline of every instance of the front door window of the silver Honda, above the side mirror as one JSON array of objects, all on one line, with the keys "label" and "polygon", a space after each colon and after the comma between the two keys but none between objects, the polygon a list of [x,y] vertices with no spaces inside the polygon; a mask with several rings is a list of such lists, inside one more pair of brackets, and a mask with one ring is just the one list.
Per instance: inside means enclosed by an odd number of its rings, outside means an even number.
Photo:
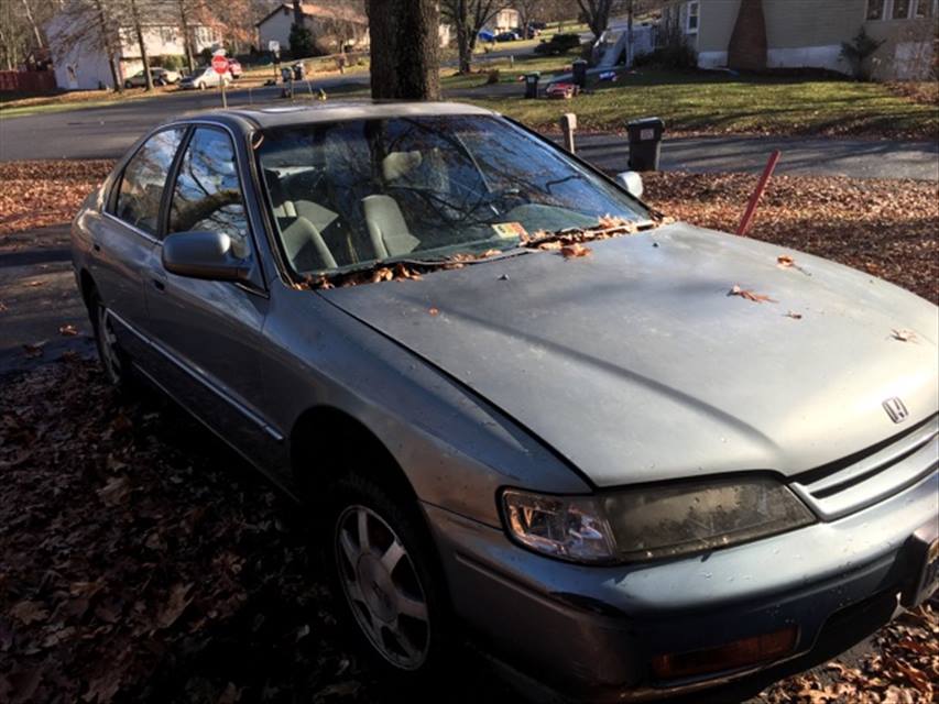
[{"label": "front door window of the silver Honda, above the side mirror", "polygon": [[234,147],[228,134],[211,128],[193,133],[170,205],[167,233],[192,230],[222,232],[231,239],[232,253],[251,254]]}]

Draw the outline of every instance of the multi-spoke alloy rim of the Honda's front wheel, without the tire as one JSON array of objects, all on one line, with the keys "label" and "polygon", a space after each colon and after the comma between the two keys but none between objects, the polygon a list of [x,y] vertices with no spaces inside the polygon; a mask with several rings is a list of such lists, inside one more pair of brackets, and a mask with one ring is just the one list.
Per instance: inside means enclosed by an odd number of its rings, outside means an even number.
[{"label": "multi-spoke alloy rim of the Honda's front wheel, without the tire", "polygon": [[416,670],[427,660],[427,600],[404,543],[365,506],[349,506],[336,521],[339,582],[356,622],[391,664]]}]

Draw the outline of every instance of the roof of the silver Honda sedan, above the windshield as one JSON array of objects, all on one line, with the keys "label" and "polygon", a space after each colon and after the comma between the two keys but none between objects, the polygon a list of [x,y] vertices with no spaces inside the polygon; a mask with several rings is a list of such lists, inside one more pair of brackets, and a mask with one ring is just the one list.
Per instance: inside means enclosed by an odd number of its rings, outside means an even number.
[{"label": "roof of the silver Honda sedan, above the windshield", "polygon": [[265,129],[317,122],[339,122],[345,120],[370,120],[386,118],[435,117],[479,114],[494,116],[495,112],[461,102],[401,102],[401,101],[328,101],[314,105],[291,105],[266,108],[238,108],[218,110],[198,116],[198,120],[218,119],[230,121],[231,118],[248,121]]}]

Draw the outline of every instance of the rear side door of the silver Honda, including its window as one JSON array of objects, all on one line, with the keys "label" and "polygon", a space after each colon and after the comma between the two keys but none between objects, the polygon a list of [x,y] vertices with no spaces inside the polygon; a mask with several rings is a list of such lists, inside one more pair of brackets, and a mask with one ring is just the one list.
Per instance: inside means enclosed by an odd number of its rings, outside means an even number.
[{"label": "rear side door of the silver Honda, including its window", "polygon": [[148,261],[157,244],[163,191],[184,134],[184,128],[168,128],[143,142],[114,179],[105,212],[88,224],[91,276],[118,322],[121,346],[135,358],[146,352],[140,332],[146,326]]}]

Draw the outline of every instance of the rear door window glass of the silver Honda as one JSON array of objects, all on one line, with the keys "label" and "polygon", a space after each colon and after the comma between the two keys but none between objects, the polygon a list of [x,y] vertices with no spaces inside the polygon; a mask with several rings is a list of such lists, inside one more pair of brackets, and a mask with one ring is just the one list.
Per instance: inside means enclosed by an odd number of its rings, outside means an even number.
[{"label": "rear door window glass of the silver Honda", "polygon": [[166,177],[183,133],[183,128],[174,128],[154,134],[128,162],[121,176],[114,216],[154,237]]}]

